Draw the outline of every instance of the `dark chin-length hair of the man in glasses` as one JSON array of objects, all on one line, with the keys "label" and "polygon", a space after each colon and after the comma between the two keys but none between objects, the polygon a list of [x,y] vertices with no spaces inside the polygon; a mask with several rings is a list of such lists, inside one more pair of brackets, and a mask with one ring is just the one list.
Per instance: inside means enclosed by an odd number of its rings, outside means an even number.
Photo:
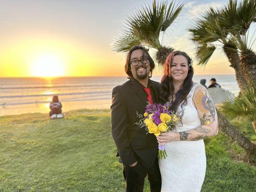
[{"label": "dark chin-length hair of the man in glasses", "polygon": [[131,55],[132,55],[132,52],[134,50],[138,50],[138,49],[143,50],[143,56],[146,56],[148,58],[149,63],[150,63],[150,73],[151,73],[149,75],[149,78],[152,77],[152,72],[153,72],[153,70],[155,68],[154,60],[150,57],[148,51],[146,50],[146,48],[144,46],[142,46],[142,45],[135,45],[134,47],[132,47],[129,50],[129,52],[128,52],[127,56],[126,56],[126,63],[125,63],[125,66],[124,66],[124,70],[125,70],[126,74],[128,75],[128,77],[127,77],[128,79],[131,79],[131,77],[133,77],[133,74],[132,74],[132,71],[131,71],[131,63],[130,63]]}]

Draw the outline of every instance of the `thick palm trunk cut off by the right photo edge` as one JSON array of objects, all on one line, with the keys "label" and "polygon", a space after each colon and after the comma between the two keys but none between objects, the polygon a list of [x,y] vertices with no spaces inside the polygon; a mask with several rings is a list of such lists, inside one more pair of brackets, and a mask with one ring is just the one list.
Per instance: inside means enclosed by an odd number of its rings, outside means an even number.
[{"label": "thick palm trunk cut off by the right photo edge", "polygon": [[256,83],[256,55],[252,50],[241,53],[241,68],[248,83]]}]

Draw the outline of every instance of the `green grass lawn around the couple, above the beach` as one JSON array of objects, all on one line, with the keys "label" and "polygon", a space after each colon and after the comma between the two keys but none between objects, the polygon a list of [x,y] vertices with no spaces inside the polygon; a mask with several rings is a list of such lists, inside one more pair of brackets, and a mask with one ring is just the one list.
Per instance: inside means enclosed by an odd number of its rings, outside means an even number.
[{"label": "green grass lawn around the couple, above the beach", "polygon": [[[256,168],[237,144],[222,133],[205,144],[202,192],[256,191]],[[115,155],[109,110],[0,117],[0,192],[123,192]]]}]

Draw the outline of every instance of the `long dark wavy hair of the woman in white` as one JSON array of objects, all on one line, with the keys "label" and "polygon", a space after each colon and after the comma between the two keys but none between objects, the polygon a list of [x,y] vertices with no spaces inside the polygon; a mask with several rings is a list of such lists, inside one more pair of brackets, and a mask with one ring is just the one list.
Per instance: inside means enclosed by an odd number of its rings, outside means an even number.
[{"label": "long dark wavy hair of the woman in white", "polygon": [[162,99],[163,102],[169,101],[169,96],[174,95],[174,87],[172,84],[172,77],[171,77],[171,63],[173,60],[173,57],[176,55],[182,55],[184,56],[188,61],[188,74],[185,78],[183,85],[181,89],[175,94],[175,100],[172,102],[171,109],[176,111],[178,106],[184,101],[187,102],[187,95],[189,94],[192,86],[193,86],[193,75],[194,70],[192,67],[192,60],[191,58],[183,51],[174,51],[171,52],[168,57],[165,60],[164,63],[164,75],[161,79],[161,85],[160,85],[160,92],[159,96]]}]

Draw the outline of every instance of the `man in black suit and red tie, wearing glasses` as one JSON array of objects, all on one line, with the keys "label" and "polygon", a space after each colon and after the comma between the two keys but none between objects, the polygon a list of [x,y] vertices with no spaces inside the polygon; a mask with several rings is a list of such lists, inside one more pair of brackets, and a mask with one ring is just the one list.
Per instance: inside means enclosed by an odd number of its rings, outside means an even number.
[{"label": "man in black suit and red tie, wearing glasses", "polygon": [[147,102],[159,103],[159,83],[151,81],[155,63],[143,46],[128,52],[125,72],[129,81],[112,91],[111,132],[117,146],[117,156],[123,164],[126,192],[143,192],[147,175],[150,191],[160,192],[158,143],[154,134],[146,134],[136,123],[136,112],[144,114]]}]

